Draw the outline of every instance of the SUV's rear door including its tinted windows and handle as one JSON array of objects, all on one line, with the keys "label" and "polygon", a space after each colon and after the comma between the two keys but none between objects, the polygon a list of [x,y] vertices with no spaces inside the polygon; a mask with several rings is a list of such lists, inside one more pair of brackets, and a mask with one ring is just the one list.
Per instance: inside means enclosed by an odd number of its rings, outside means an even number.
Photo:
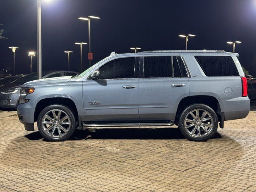
[{"label": "SUV's rear door including its tinted windows and handle", "polygon": [[142,68],[138,102],[140,120],[174,120],[175,106],[189,95],[189,73],[182,57],[145,56]]}]

